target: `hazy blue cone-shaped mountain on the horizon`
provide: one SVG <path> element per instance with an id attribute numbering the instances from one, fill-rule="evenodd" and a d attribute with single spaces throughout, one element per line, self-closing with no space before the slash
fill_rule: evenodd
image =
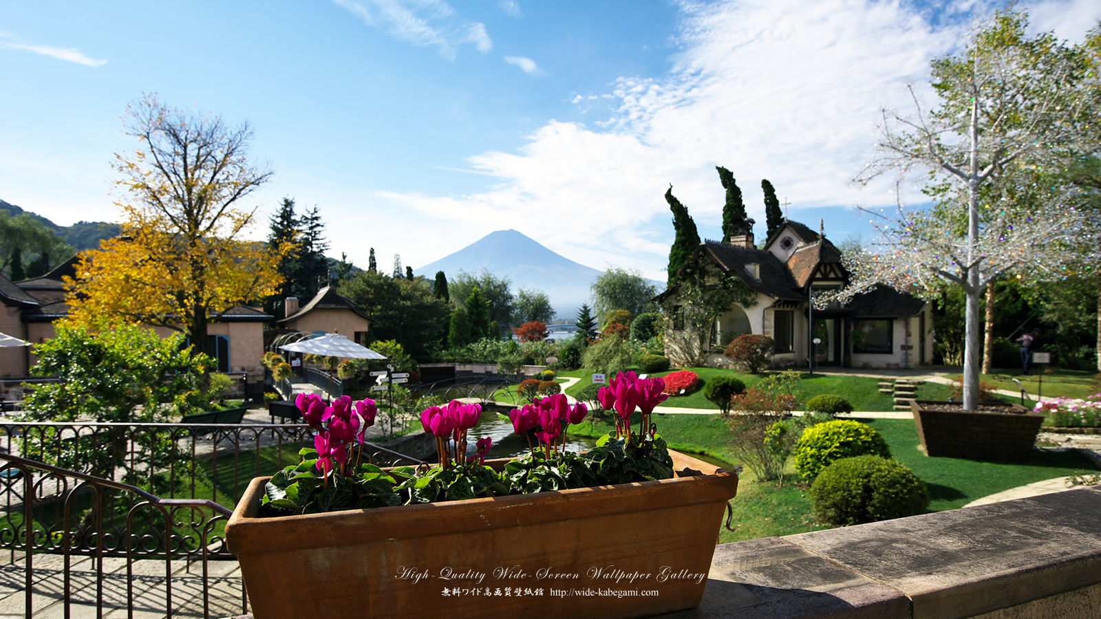
<path id="1" fill-rule="evenodd" d="M 512 291 L 538 290 L 550 298 L 558 319 L 574 319 L 582 303 L 592 305 L 589 285 L 603 271 L 559 256 L 516 230 L 490 232 L 469 246 L 413 272 L 432 281 L 443 271 L 450 281 L 459 271 L 482 269 L 512 280 Z M 653 282 L 658 284 L 658 282 Z M 664 285 L 658 286 L 658 290 Z"/>

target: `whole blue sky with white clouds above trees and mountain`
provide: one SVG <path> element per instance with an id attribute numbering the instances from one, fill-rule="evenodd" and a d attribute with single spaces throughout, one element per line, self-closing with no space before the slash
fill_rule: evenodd
<path id="1" fill-rule="evenodd" d="M 274 172 L 244 203 L 252 235 L 283 196 L 317 206 L 330 254 L 373 247 L 416 269 L 516 229 L 598 269 L 664 280 L 663 194 L 720 236 L 730 169 L 763 235 L 761 178 L 835 241 L 893 184 L 849 182 L 881 107 L 927 104 L 928 64 L 995 2 L 868 0 L 0 3 L 0 199 L 62 225 L 118 220 L 127 104 L 254 130 Z M 1095 0 L 1024 4 L 1078 41 Z M 924 174 L 903 184 L 920 202 Z M 428 274 L 430 275 L 430 273 Z"/>

